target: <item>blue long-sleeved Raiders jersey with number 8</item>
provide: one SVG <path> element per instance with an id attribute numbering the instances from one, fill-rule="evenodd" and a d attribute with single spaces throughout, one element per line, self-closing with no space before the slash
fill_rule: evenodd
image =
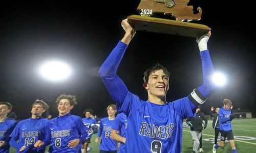
<path id="1" fill-rule="evenodd" d="M 87 137 L 87 130 L 81 117 L 71 114 L 50 120 L 51 146 L 49 152 L 81 152 L 81 143 Z M 79 144 L 70 148 L 69 142 L 80 139 Z"/>

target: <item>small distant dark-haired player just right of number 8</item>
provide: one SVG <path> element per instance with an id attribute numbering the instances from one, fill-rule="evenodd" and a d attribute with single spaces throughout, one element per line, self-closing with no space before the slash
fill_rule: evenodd
<path id="1" fill-rule="evenodd" d="M 91 109 L 86 109 L 83 114 L 86 116 L 86 118 L 82 118 L 82 122 L 84 125 L 86 125 L 87 129 L 88 129 L 88 136 L 86 138 L 86 140 L 84 140 L 82 142 L 82 152 L 83 153 L 87 153 L 87 148 L 89 143 L 91 143 L 91 138 L 93 136 L 93 129 L 92 126 L 97 124 L 96 120 L 91 118 L 91 115 L 93 114 L 93 110 Z"/>

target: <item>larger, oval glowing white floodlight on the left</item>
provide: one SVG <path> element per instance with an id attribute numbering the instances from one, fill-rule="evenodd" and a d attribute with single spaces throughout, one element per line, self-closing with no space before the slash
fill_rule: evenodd
<path id="1" fill-rule="evenodd" d="M 39 68 L 40 75 L 50 81 L 66 80 L 71 75 L 71 67 L 61 61 L 48 61 Z"/>

